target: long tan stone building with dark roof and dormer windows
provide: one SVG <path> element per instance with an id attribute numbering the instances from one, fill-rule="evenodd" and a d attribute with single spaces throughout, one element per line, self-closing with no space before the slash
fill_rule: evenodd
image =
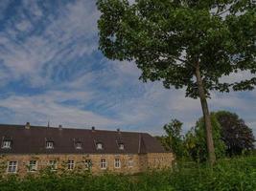
<path id="1" fill-rule="evenodd" d="M 90 170 L 138 173 L 166 168 L 174 156 L 151 135 L 92 128 L 71 129 L 26 125 L 0 125 L 1 173 L 52 170 Z"/>

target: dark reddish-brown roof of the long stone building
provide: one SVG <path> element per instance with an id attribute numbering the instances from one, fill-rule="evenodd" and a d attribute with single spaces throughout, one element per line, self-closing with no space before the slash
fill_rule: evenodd
<path id="1" fill-rule="evenodd" d="M 11 140 L 12 148 L 0 148 L 0 154 L 138 154 L 166 152 L 156 138 L 146 133 L 54 128 L 24 125 L 0 125 L 0 138 Z M 46 149 L 46 141 L 54 141 L 54 149 Z M 76 149 L 75 142 L 81 142 Z M 104 145 L 96 149 L 96 143 Z M 119 149 L 123 143 L 124 150 Z"/>

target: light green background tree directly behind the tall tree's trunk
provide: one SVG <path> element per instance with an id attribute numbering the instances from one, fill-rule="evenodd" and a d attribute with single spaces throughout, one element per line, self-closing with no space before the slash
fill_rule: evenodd
<path id="1" fill-rule="evenodd" d="M 211 114 L 211 121 L 213 125 L 213 139 L 215 145 L 215 154 L 217 158 L 222 158 L 225 154 L 225 144 L 221 140 L 221 125 L 215 117 Z M 189 131 L 185 138 L 186 149 L 193 159 L 200 161 L 207 159 L 207 146 L 205 138 L 204 120 L 200 117 L 196 123 L 195 128 Z"/>

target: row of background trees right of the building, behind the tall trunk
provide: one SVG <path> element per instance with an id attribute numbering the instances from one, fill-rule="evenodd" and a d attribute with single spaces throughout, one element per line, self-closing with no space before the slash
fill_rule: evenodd
<path id="1" fill-rule="evenodd" d="M 219 111 L 211 114 L 212 133 L 217 159 L 250 154 L 255 138 L 251 128 L 235 113 Z M 172 150 L 177 159 L 207 159 L 205 124 L 200 117 L 195 126 L 182 135 L 182 122 L 173 119 L 164 125 L 165 136 L 157 137 L 167 150 Z"/>

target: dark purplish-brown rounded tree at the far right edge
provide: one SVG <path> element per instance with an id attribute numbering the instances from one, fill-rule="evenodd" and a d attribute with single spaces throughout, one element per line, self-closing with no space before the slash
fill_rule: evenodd
<path id="1" fill-rule="evenodd" d="M 221 124 L 221 139 L 226 145 L 226 152 L 229 156 L 241 155 L 243 150 L 254 148 L 255 138 L 252 130 L 244 123 L 238 115 L 227 111 L 215 113 Z"/>

